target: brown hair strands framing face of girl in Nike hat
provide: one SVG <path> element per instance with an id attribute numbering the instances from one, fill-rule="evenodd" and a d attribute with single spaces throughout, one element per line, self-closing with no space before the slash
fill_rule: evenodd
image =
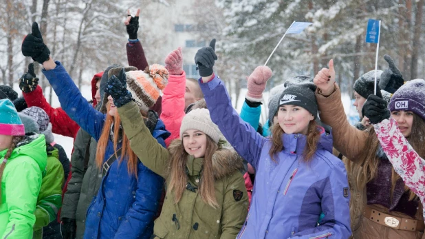
<path id="1" fill-rule="evenodd" d="M 269 155 L 274 162 L 277 162 L 275 158 L 276 154 L 283 150 L 283 134 L 285 134 L 285 132 L 283 132 L 281 125 L 276 123 L 272 126 L 272 147 L 270 147 Z M 316 124 L 316 121 L 310 121 L 307 129 L 307 143 L 303 152 L 304 162 L 308 163 L 309 160 L 312 159 L 312 157 L 316 153 L 317 144 L 319 140 L 320 132 L 318 130 L 318 125 Z"/>

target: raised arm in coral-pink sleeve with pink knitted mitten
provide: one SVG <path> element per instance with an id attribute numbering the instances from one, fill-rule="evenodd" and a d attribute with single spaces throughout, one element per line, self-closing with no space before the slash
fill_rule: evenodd
<path id="1" fill-rule="evenodd" d="M 161 119 L 166 129 L 171 133 L 165 141 L 166 146 L 171 141 L 179 138 L 180 125 L 184 118 L 184 92 L 186 87 L 186 73 L 183 70 L 182 48 L 173 50 L 165 58 L 165 65 L 168 69 L 168 84 L 164 88 L 162 96 Z"/>

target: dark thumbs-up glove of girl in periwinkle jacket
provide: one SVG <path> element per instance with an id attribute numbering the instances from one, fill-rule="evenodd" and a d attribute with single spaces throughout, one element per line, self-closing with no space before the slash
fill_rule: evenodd
<path id="1" fill-rule="evenodd" d="M 210 46 L 205 46 L 196 52 L 195 64 L 198 65 L 199 75 L 206 77 L 212 75 L 214 70 L 215 61 L 217 61 L 217 55 L 215 54 L 215 39 L 212 39 Z"/>

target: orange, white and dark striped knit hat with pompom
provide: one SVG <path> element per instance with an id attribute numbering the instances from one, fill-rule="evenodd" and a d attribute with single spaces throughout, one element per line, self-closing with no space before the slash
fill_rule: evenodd
<path id="1" fill-rule="evenodd" d="M 162 65 L 153 64 L 146 70 L 134 70 L 125 73 L 127 90 L 138 103 L 140 110 L 148 112 L 160 97 L 160 91 L 168 83 L 168 70 Z"/>

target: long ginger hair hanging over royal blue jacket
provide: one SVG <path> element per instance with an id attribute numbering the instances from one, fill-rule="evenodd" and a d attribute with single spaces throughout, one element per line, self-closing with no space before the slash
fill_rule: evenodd
<path id="1" fill-rule="evenodd" d="M 110 104 L 107 103 L 107 112 L 109 112 Z M 98 168 L 102 169 L 103 161 L 105 160 L 105 151 L 107 149 L 108 141 L 109 141 L 109 129 L 111 129 L 111 125 L 114 125 L 113 128 L 113 151 L 114 154 L 117 154 L 117 144 L 118 137 L 120 132 L 121 118 L 118 114 L 115 117 L 107 114 L 107 118 L 105 120 L 105 124 L 103 125 L 102 134 L 100 134 L 100 138 L 98 141 L 98 147 L 96 149 L 96 165 Z M 138 177 L 138 156 L 135 155 L 133 150 L 130 148 L 130 141 L 127 138 L 127 135 L 122 129 L 122 150 L 121 150 L 121 158 L 118 163 L 122 163 L 124 157 L 128 156 L 127 160 L 127 171 L 129 174 L 133 174 L 136 178 Z M 116 155 L 118 158 L 118 155 Z"/>

